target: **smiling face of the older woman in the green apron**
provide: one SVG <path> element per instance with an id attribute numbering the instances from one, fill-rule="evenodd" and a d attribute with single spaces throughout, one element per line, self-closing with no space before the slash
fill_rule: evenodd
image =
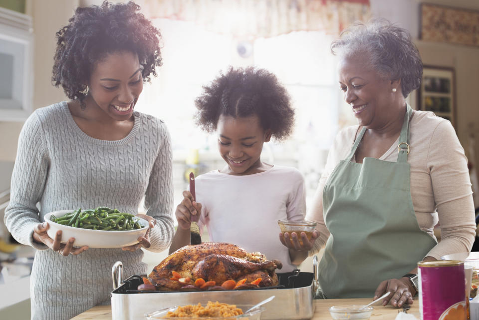
<path id="1" fill-rule="evenodd" d="M 359 125 L 374 129 L 387 121 L 392 81 L 381 78 L 368 59 L 360 55 L 342 58 L 338 70 L 344 100 Z"/>

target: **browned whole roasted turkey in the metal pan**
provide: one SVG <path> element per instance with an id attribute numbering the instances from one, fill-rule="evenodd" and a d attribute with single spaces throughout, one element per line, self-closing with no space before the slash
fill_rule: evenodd
<path id="1" fill-rule="evenodd" d="M 241 279 L 246 279 L 245 284 L 249 284 L 261 278 L 258 286 L 270 287 L 278 285 L 274 271 L 281 267 L 278 260 L 268 261 L 258 252 L 248 253 L 228 243 L 206 242 L 178 249 L 153 269 L 149 279 L 158 290 L 166 291 L 178 291 L 185 287 L 185 283 L 172 279 L 173 271 L 182 278 L 190 278 L 192 283 L 202 278 L 215 281 L 217 285 Z"/>

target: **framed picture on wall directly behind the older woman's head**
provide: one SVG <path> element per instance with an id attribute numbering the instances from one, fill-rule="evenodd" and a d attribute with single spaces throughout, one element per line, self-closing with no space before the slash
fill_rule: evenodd
<path id="1" fill-rule="evenodd" d="M 448 119 L 457 131 L 454 68 L 425 65 L 418 100 L 419 110 Z"/>

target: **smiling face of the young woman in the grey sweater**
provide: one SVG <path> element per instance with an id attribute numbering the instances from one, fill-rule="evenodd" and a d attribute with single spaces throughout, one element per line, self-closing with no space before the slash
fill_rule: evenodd
<path id="1" fill-rule="evenodd" d="M 107 116 L 117 121 L 130 119 L 143 90 L 137 54 L 129 51 L 108 54 L 95 64 L 89 87 L 88 96 Z"/>

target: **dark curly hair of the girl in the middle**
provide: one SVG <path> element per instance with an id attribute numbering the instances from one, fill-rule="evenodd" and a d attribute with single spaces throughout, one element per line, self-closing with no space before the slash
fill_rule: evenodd
<path id="1" fill-rule="evenodd" d="M 230 67 L 195 100 L 197 124 L 207 132 L 217 129 L 220 115 L 257 115 L 264 130 L 280 141 L 287 138 L 294 124 L 294 110 L 286 89 L 274 74 L 254 67 Z"/>

